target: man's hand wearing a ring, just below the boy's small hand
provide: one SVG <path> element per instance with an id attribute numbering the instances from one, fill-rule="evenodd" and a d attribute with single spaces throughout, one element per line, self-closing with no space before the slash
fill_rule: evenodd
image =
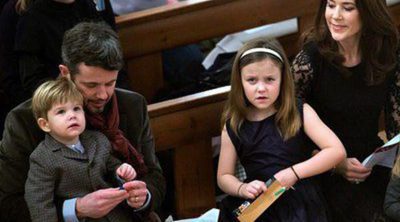
<path id="1" fill-rule="evenodd" d="M 147 187 L 146 183 L 139 180 L 126 182 L 124 184 L 125 190 L 129 193 L 127 199 L 129 206 L 133 208 L 140 208 L 146 202 Z"/>

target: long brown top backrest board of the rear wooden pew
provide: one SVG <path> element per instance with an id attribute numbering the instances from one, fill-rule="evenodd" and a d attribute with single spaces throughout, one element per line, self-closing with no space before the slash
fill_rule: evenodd
<path id="1" fill-rule="evenodd" d="M 315 0 L 218 0 L 176 8 L 175 14 L 162 19 L 131 21 L 117 18 L 118 32 L 126 58 L 163 49 L 196 43 L 241 30 L 310 14 Z M 201 6 L 201 7 L 199 7 Z M 276 10 L 284 9 L 284 10 Z M 167 10 L 168 11 L 168 10 Z M 145 17 L 145 16 L 144 16 Z M 136 39 L 138 41 L 131 41 Z"/>

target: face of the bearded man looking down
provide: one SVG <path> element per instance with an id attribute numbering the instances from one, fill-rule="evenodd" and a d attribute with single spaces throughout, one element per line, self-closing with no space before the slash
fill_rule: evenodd
<path id="1" fill-rule="evenodd" d="M 92 113 L 101 113 L 114 93 L 117 77 L 118 70 L 109 71 L 81 63 L 72 80 L 83 95 L 85 107 Z"/>

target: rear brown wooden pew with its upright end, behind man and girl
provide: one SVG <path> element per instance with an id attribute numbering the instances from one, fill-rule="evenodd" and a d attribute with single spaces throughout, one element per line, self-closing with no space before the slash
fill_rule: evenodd
<path id="1" fill-rule="evenodd" d="M 117 17 L 117 29 L 134 91 L 151 102 L 164 86 L 161 52 L 241 30 L 298 17 L 299 30 L 312 21 L 316 0 L 187 0 Z M 282 10 L 281 10 L 282 9 Z M 298 34 L 281 39 L 298 51 Z"/>

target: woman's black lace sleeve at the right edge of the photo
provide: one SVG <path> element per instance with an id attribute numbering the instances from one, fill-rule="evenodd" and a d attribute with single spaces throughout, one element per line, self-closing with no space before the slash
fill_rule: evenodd
<path id="1" fill-rule="evenodd" d="M 400 55 L 398 60 L 400 60 Z M 388 139 L 393 138 L 400 131 L 400 64 L 398 66 L 393 82 L 389 83 L 385 107 L 385 128 Z"/>

